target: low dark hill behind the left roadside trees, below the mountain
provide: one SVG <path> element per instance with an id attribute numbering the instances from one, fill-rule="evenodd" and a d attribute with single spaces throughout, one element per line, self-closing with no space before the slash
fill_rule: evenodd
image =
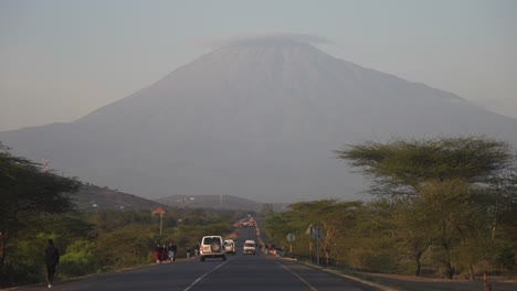
<path id="1" fill-rule="evenodd" d="M 81 211 L 152 209 L 158 206 L 163 206 L 163 204 L 156 201 L 89 184 L 83 185 L 73 197 Z"/>

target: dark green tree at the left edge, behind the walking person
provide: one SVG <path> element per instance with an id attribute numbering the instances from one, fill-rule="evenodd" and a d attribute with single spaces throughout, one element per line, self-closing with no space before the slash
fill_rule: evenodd
<path id="1" fill-rule="evenodd" d="M 78 186 L 75 179 L 43 172 L 0 144 L 0 272 L 17 235 L 33 228 L 43 214 L 73 209 L 70 194 Z"/>

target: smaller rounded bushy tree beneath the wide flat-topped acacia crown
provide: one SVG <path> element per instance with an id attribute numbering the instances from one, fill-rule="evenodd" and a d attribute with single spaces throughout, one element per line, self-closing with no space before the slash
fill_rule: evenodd
<path id="1" fill-rule="evenodd" d="M 464 180 L 432 181 L 422 187 L 415 204 L 429 224 L 437 260 L 452 279 L 456 265 L 463 265 L 474 280 L 473 265 L 481 259 L 481 251 L 473 251 L 488 238 L 489 226 L 485 207 L 479 207 L 476 195 L 481 192 Z M 465 251 L 464 251 L 465 250 Z"/>

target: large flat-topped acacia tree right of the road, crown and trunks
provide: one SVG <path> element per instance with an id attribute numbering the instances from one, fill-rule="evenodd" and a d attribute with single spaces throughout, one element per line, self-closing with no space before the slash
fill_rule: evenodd
<path id="1" fill-rule="evenodd" d="M 420 227 L 420 224 L 411 224 L 410 220 L 431 219 L 431 216 L 424 216 L 422 209 L 429 201 L 419 201 L 423 193 L 430 192 L 430 185 L 434 185 L 437 191 L 432 193 L 442 193 L 444 195 L 434 195 L 433 200 L 445 201 L 457 191 L 451 186 L 452 183 L 463 181 L 468 187 L 463 188 L 468 193 L 472 188 L 484 190 L 485 193 L 494 191 L 494 177 L 500 176 L 513 166 L 514 155 L 510 153 L 509 146 L 504 141 L 487 139 L 485 137 L 462 137 L 462 138 L 440 138 L 433 140 L 395 140 L 389 143 L 367 142 L 358 146 L 347 146 L 342 150 L 336 151 L 339 159 L 351 161 L 351 164 L 359 169 L 359 172 L 369 176 L 372 181 L 370 192 L 386 198 L 391 205 L 405 205 L 404 212 L 399 212 L 403 217 L 405 225 L 400 227 L 404 231 L 398 231 L 407 246 L 419 246 L 422 238 L 425 238 L 429 228 Z M 515 182 L 515 181 L 514 181 Z M 441 184 L 442 183 L 442 184 Z M 468 191 L 467 191 L 468 190 Z M 483 205 L 477 200 L 476 207 L 485 207 L 487 212 L 494 208 L 494 205 Z M 439 233 L 433 233 L 434 237 L 430 241 L 440 240 L 439 245 L 451 249 L 456 247 L 457 236 L 465 238 L 468 229 L 460 231 L 458 226 L 466 224 L 467 217 L 472 217 L 473 209 L 476 207 L 462 207 L 460 201 L 454 201 L 455 205 L 466 213 L 456 215 L 452 218 L 454 231 L 445 231 L 451 235 L 444 238 Z M 444 204 L 442 204 L 444 205 Z M 449 205 L 454 207 L 454 205 Z M 391 213 L 393 214 L 393 213 Z M 432 225 L 428 224 L 428 225 Z M 405 229 L 404 229 L 405 228 Z M 479 226 L 481 228 L 481 226 Z M 420 242 L 419 242 L 420 241 Z M 420 274 L 420 257 L 422 250 L 426 247 L 419 247 L 415 260 L 415 274 Z M 420 255 L 419 255 L 420 254 Z M 445 251 L 445 256 L 449 256 Z M 451 260 L 445 259 L 444 263 L 451 265 Z M 452 278 L 454 268 L 447 266 L 447 277 Z"/>

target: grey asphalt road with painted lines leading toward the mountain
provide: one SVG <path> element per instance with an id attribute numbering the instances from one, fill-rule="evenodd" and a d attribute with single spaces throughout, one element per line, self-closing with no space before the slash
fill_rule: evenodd
<path id="1" fill-rule="evenodd" d="M 257 251 L 242 255 L 244 239 L 255 239 L 255 228 L 243 228 L 238 238 L 238 255 L 221 259 L 199 258 L 178 260 L 168 265 L 150 265 L 136 269 L 56 281 L 52 290 L 377 290 L 325 271 Z M 43 290 L 33 285 L 17 290 Z"/>

